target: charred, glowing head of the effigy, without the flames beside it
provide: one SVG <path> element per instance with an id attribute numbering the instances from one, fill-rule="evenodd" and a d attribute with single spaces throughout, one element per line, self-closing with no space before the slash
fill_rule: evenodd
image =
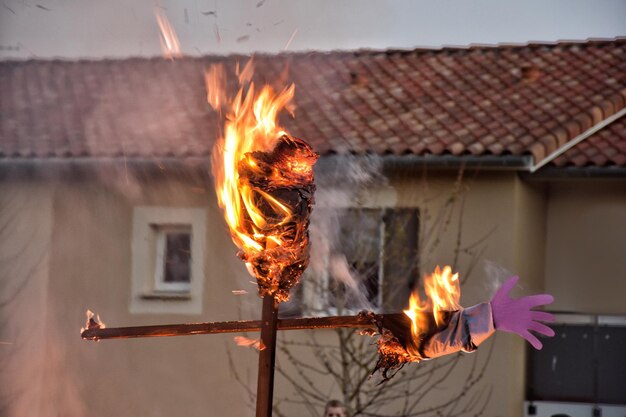
<path id="1" fill-rule="evenodd" d="M 271 153 L 246 154 L 239 164 L 240 183 L 252 190 L 254 199 L 244 202 L 249 207 L 245 227 L 263 247 L 239 256 L 252 269 L 262 296 L 289 298 L 309 263 L 308 226 L 315 190 L 311 168 L 316 159 L 309 145 L 285 134 Z M 252 220 L 258 212 L 262 219 Z"/>

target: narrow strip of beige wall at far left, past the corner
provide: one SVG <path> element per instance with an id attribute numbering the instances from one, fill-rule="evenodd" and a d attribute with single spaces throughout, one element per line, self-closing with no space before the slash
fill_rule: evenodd
<path id="1" fill-rule="evenodd" d="M 68 398 L 71 382 L 48 384 L 62 374 L 62 352 L 46 326 L 52 192 L 41 183 L 0 182 L 0 398 L 1 415 L 40 415 L 42 404 Z M 6 401 L 11 399 L 11 401 Z"/>

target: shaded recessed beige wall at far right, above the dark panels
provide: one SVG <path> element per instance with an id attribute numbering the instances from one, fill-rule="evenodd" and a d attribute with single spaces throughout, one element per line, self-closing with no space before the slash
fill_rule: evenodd
<path id="1" fill-rule="evenodd" d="M 626 182 L 587 180 L 550 186 L 546 289 L 554 308 L 626 314 Z"/>

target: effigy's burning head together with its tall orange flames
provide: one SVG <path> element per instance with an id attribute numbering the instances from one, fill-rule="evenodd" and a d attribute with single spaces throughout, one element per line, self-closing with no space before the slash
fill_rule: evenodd
<path id="1" fill-rule="evenodd" d="M 278 125 L 289 109 L 295 86 L 257 91 L 249 61 L 237 69 L 240 88 L 226 92 L 226 71 L 216 65 L 206 73 L 207 101 L 225 111 L 224 134 L 212 154 L 218 203 L 240 257 L 257 278 L 262 295 L 282 290 L 288 297 L 308 263 L 308 214 L 313 165 L 317 155 L 305 142 Z"/>

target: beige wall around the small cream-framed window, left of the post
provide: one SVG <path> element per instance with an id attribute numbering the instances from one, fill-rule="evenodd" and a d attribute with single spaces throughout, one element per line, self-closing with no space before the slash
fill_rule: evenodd
<path id="1" fill-rule="evenodd" d="M 140 205 L 208 209 L 202 314 L 129 312 L 132 209 Z M 63 333 L 88 408 L 101 416 L 246 415 L 245 392 L 228 365 L 229 335 L 90 343 L 77 333 L 87 308 L 113 326 L 254 318 L 254 287 L 234 256 L 214 193 L 175 179 L 79 180 L 58 187 L 54 219 L 50 296 L 71 323 Z M 236 298 L 231 291 L 240 288 L 251 294 Z M 253 352 L 237 358 L 255 369 Z"/>

